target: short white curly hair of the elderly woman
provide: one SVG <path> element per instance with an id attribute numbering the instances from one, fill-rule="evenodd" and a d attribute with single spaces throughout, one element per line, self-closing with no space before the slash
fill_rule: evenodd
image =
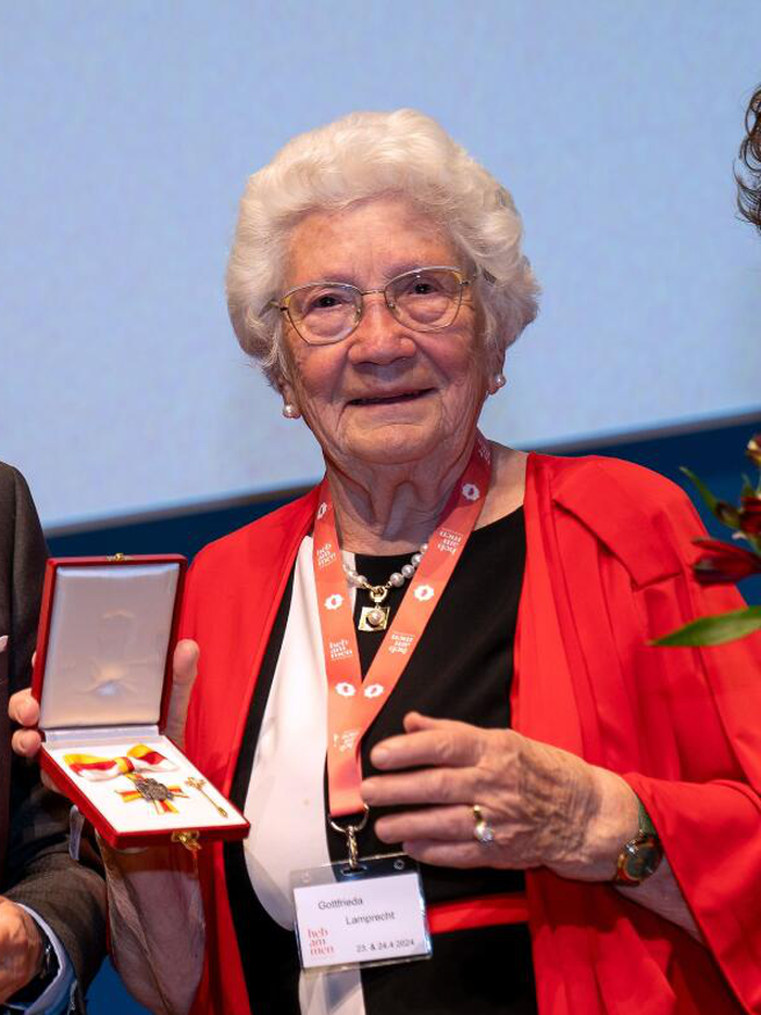
<path id="1" fill-rule="evenodd" d="M 484 351 L 501 360 L 537 313 L 539 287 L 521 251 L 512 197 L 431 116 L 350 113 L 290 140 L 249 177 L 227 265 L 227 308 L 242 349 L 277 386 L 286 376 L 282 314 L 288 238 L 310 212 L 402 195 L 476 270 Z"/>

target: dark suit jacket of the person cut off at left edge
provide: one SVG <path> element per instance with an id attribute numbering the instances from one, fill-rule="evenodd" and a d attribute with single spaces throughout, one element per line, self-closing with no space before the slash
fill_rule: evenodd
<path id="1" fill-rule="evenodd" d="M 8 693 L 29 684 L 47 547 L 24 478 L 0 464 L 0 634 L 8 632 Z M 7 715 L 5 696 L 2 713 Z M 0 743 L 9 768 L 8 729 Z M 49 924 L 86 987 L 105 949 L 105 888 L 97 851 L 68 855 L 70 804 L 39 781 L 36 764 L 14 757 L 3 894 Z"/>

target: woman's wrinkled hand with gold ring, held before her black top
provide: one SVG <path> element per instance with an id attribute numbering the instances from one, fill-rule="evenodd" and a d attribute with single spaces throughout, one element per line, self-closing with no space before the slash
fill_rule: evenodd
<path id="1" fill-rule="evenodd" d="M 376 744 L 376 775 L 362 784 L 386 815 L 384 842 L 447 867 L 547 866 L 565 877 L 608 880 L 624 842 L 638 829 L 637 798 L 615 773 L 511 729 L 483 729 L 411 712 L 406 732 Z M 403 770 L 413 769 L 413 770 Z M 473 805 L 494 829 L 474 836 Z"/>

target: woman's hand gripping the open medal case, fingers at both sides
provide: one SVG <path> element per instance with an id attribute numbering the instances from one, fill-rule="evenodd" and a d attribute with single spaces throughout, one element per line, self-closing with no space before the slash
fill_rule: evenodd
<path id="1" fill-rule="evenodd" d="M 178 641 L 174 650 L 172 697 L 166 713 L 165 732 L 180 749 L 185 747 L 185 723 L 188 716 L 190 692 L 198 673 L 199 654 L 198 643 L 189 638 Z M 22 757 L 35 757 L 42 742 L 36 729 L 39 722 L 39 702 L 32 697 L 28 687 L 11 696 L 8 714 L 12 722 L 22 727 L 13 734 L 11 739 L 13 750 Z"/>

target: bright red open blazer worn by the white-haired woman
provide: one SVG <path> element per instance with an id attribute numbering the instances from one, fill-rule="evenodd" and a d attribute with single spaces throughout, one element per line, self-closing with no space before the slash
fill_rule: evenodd
<path id="1" fill-rule="evenodd" d="M 207 547 L 183 635 L 201 647 L 194 762 L 228 792 L 251 694 L 315 491 Z M 693 579 L 702 534 L 669 480 L 610 459 L 532 455 L 514 728 L 622 773 L 707 947 L 610 885 L 526 872 L 541 1015 L 761 1015 L 761 638 L 649 640 L 736 609 Z M 207 964 L 195 1011 L 248 1015 L 222 848 L 201 854 Z M 266 976 L 267 970 L 262 970 Z M 254 1013 L 255 1015 L 255 1013 Z"/>

